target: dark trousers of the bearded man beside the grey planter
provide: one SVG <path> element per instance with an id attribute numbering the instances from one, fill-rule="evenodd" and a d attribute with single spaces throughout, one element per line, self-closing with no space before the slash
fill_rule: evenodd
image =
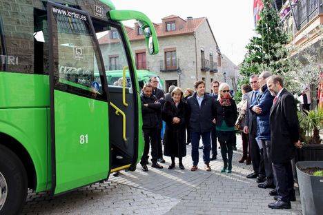
<path id="1" fill-rule="evenodd" d="M 278 196 L 282 198 L 282 201 L 290 201 L 290 198 L 295 196 L 291 161 L 286 163 L 273 163 L 273 174 Z"/>

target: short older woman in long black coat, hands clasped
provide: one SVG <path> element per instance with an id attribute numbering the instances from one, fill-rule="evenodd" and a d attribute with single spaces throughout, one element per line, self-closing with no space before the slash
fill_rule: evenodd
<path id="1" fill-rule="evenodd" d="M 181 88 L 175 88 L 171 95 L 172 100 L 166 101 L 161 110 L 161 118 L 166 122 L 164 155 L 172 158 L 169 170 L 175 167 L 175 157 L 179 159 L 179 168 L 184 170 L 182 158 L 186 156 L 186 103 L 182 101 Z"/>

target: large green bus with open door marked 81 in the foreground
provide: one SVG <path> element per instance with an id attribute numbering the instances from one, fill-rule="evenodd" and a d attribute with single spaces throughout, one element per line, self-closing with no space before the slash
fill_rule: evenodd
<path id="1" fill-rule="evenodd" d="M 135 170 L 141 103 L 121 23 L 131 19 L 157 54 L 150 19 L 109 0 L 0 0 L 0 214 L 18 214 L 28 188 L 62 194 Z M 117 67 L 130 86 L 108 84 Z"/>

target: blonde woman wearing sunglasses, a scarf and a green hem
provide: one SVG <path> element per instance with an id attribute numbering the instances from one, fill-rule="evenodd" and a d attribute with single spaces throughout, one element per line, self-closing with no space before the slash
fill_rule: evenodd
<path id="1" fill-rule="evenodd" d="M 221 172 L 231 173 L 233 145 L 235 144 L 235 121 L 237 120 L 237 105 L 230 94 L 227 83 L 219 85 L 219 96 L 215 103 L 217 139 L 221 145 L 224 166 Z"/>

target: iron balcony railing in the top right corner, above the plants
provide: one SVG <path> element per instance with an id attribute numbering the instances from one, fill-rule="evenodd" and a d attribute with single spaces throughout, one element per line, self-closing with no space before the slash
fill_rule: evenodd
<path id="1" fill-rule="evenodd" d="M 318 14 L 323 12 L 322 0 L 294 0 L 292 12 L 295 17 L 296 28 L 300 30 Z"/>

